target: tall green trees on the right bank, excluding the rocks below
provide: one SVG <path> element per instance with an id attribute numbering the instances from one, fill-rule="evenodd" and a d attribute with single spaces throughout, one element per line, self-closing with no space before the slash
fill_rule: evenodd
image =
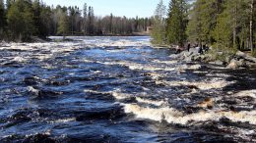
<path id="1" fill-rule="evenodd" d="M 256 54 L 255 6 L 256 0 L 170 0 L 166 13 L 160 0 L 153 42 L 179 46 L 192 42 L 219 49 L 251 49 Z"/>

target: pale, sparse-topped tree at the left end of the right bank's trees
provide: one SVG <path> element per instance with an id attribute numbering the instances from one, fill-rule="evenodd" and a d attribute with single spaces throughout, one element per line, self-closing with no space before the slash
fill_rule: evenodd
<path id="1" fill-rule="evenodd" d="M 162 0 L 157 6 L 154 16 L 153 30 L 151 36 L 153 37 L 152 42 L 154 44 L 164 44 L 165 39 L 165 12 L 166 7 L 163 5 Z"/>

